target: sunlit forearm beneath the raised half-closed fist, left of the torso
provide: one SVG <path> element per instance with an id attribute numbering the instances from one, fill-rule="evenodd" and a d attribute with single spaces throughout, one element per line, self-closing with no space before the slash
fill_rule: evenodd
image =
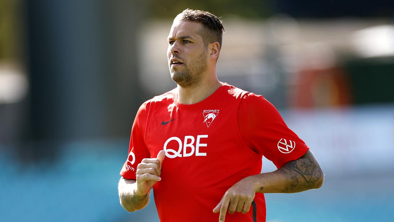
<path id="1" fill-rule="evenodd" d="M 121 178 L 118 185 L 120 203 L 126 211 L 133 212 L 143 209 L 149 203 L 149 193 L 145 196 L 135 194 L 136 181 Z"/>

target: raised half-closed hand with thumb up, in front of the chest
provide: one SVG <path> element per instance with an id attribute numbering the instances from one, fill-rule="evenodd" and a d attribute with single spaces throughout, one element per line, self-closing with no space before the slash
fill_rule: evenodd
<path id="1" fill-rule="evenodd" d="M 145 158 L 137 166 L 137 188 L 134 193 L 137 196 L 146 196 L 153 185 L 160 181 L 162 174 L 162 163 L 165 157 L 165 151 L 162 150 L 157 154 L 157 158 Z"/>

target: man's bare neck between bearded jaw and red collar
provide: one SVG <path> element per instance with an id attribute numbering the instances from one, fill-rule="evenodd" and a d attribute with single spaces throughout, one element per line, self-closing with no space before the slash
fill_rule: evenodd
<path id="1" fill-rule="evenodd" d="M 178 85 L 178 101 L 182 104 L 189 105 L 201 102 L 212 95 L 212 93 L 221 87 L 221 83 L 217 80 L 216 75 L 210 76 L 212 77 L 205 78 L 195 86 L 184 88 Z"/>

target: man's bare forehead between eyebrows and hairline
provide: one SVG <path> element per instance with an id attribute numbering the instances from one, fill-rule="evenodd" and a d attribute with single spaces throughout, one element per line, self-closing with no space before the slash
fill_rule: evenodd
<path id="1" fill-rule="evenodd" d="M 194 39 L 202 39 L 197 31 L 201 28 L 201 23 L 175 19 L 171 26 L 168 38 L 179 38 L 180 36 L 190 36 Z"/>

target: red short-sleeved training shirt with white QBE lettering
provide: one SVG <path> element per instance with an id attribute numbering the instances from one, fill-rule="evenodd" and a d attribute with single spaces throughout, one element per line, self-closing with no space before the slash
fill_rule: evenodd
<path id="1" fill-rule="evenodd" d="M 120 174 L 135 180 L 141 160 L 163 149 L 162 180 L 153 186 L 160 221 L 199 222 L 218 220 L 212 209 L 232 185 L 261 172 L 263 155 L 279 168 L 309 148 L 263 96 L 222 83 L 199 103 L 179 103 L 176 89 L 143 103 Z M 226 222 L 265 218 L 260 193 L 249 213 L 226 214 Z"/>

